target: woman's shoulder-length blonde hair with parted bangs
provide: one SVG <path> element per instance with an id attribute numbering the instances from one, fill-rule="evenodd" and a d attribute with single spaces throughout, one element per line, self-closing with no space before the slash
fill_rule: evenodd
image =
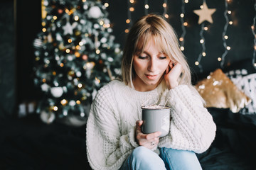
<path id="1" fill-rule="evenodd" d="M 174 28 L 165 19 L 156 14 L 149 14 L 139 19 L 127 35 L 122 58 L 122 80 L 125 84 L 133 86 L 134 69 L 132 62 L 137 52 L 142 52 L 149 39 L 153 38 L 155 45 L 171 58 L 172 62 L 178 62 L 183 67 L 183 73 L 178 84 L 191 84 L 191 71 L 185 56 L 180 50 L 177 35 Z"/>

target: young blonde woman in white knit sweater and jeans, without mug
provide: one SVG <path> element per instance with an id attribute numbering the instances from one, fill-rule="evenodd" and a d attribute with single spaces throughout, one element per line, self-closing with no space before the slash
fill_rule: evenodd
<path id="1" fill-rule="evenodd" d="M 170 132 L 143 134 L 145 104 L 171 107 Z M 196 153 L 215 137 L 213 118 L 191 85 L 191 73 L 174 29 L 156 14 L 129 31 L 122 81 L 97 92 L 87 120 L 87 158 L 92 169 L 201 169 Z"/>

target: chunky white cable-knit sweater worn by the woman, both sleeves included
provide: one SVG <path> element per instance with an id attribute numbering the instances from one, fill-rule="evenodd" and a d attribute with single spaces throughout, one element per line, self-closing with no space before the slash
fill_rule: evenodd
<path id="1" fill-rule="evenodd" d="M 214 140 L 216 126 L 189 86 L 179 85 L 162 93 L 159 85 L 153 91 L 141 92 L 114 80 L 97 92 L 87 120 L 87 158 L 92 169 L 119 169 L 139 146 L 134 128 L 136 121 L 142 120 L 141 106 L 166 100 L 171 106 L 170 132 L 160 138 L 158 147 L 206 151 Z"/>

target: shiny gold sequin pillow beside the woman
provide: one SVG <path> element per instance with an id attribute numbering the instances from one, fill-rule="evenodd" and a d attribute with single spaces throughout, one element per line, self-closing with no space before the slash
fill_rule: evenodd
<path id="1" fill-rule="evenodd" d="M 251 99 L 240 91 L 221 69 L 211 72 L 206 79 L 198 81 L 195 87 L 208 108 L 230 108 L 233 113 L 238 113 L 251 102 Z"/>

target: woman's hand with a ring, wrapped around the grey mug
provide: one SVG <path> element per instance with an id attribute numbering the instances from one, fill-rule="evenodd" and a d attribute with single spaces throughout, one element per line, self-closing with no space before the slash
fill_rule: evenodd
<path id="1" fill-rule="evenodd" d="M 149 149 L 153 149 L 159 143 L 159 136 L 161 132 L 154 132 L 150 134 L 142 133 L 142 120 L 137 120 L 136 122 L 136 131 L 135 131 L 135 138 L 139 146 L 144 146 Z"/>

